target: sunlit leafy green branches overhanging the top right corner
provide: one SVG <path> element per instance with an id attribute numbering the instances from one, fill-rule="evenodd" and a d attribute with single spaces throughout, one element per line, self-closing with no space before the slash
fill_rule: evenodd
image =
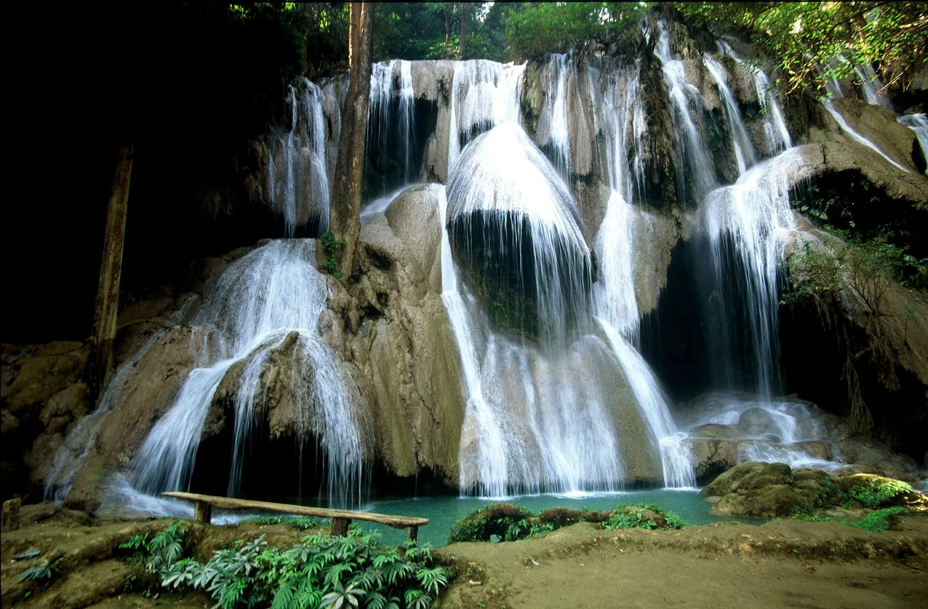
<path id="1" fill-rule="evenodd" d="M 851 78 L 854 66 L 865 63 L 879 66 L 888 84 L 908 88 L 928 57 L 928 5 L 923 2 L 674 4 L 697 25 L 750 37 L 761 55 L 777 61 L 777 84 L 789 91 L 823 90 L 828 80 Z"/>

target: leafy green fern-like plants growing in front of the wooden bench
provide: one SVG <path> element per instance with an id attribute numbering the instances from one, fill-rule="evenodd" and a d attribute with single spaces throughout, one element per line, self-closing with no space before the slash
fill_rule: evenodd
<path id="1" fill-rule="evenodd" d="M 131 549 L 136 541 L 121 547 Z M 148 570 L 160 575 L 161 587 L 204 590 L 222 609 L 399 609 L 401 603 L 425 609 L 450 577 L 434 565 L 428 545 L 409 542 L 400 552 L 359 527 L 350 527 L 347 537 L 316 533 L 284 551 L 269 548 L 264 535 L 239 540 L 234 548 L 213 552 L 206 563 L 182 556 L 189 546 L 178 523 L 144 547 Z"/>

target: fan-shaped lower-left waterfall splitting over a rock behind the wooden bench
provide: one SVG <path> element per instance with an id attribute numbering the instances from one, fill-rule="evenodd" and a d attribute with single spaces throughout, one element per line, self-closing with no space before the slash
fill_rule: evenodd
<path id="1" fill-rule="evenodd" d="M 329 501 L 357 501 L 369 455 L 364 441 L 370 422 L 353 406 L 342 364 L 316 329 L 328 298 L 326 280 L 316 271 L 312 240 L 272 241 L 229 266 L 193 320 L 219 338 L 219 353 L 207 356 L 207 362 L 187 375 L 173 406 L 149 432 L 132 465 L 135 488 L 148 493 L 188 488 L 216 389 L 238 366 L 243 369 L 228 485 L 236 493 L 253 409 L 267 388 L 264 366 L 275 349 L 289 343 L 296 435 L 319 438 L 329 473 Z"/>

